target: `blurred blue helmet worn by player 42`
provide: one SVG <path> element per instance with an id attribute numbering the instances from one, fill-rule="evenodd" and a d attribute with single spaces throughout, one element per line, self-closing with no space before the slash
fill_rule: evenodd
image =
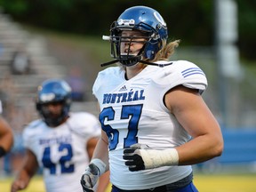
<path id="1" fill-rule="evenodd" d="M 59 116 L 52 116 L 47 104 L 61 103 Z M 56 127 L 68 116 L 71 105 L 71 87 L 61 79 L 48 79 L 37 88 L 36 110 L 44 119 L 45 124 Z"/>

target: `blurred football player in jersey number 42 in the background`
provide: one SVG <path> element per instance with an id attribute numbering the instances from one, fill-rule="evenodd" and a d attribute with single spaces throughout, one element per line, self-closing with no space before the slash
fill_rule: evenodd
<path id="1" fill-rule="evenodd" d="M 42 118 L 23 132 L 26 157 L 12 192 L 26 188 L 39 167 L 47 192 L 83 191 L 79 180 L 92 158 L 100 126 L 88 112 L 69 112 L 70 105 L 71 88 L 64 80 L 49 79 L 38 86 L 36 109 Z M 108 186 L 106 178 L 99 184 L 101 191 Z"/>

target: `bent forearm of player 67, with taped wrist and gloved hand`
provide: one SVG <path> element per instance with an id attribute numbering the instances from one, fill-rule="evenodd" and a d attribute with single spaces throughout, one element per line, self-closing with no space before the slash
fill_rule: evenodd
<path id="1" fill-rule="evenodd" d="M 212 142 L 209 142 L 212 140 Z M 124 149 L 125 165 L 131 172 L 161 166 L 198 164 L 220 156 L 223 140 L 218 134 L 205 134 L 190 140 L 178 148 L 156 149 L 147 145 L 134 144 Z"/>

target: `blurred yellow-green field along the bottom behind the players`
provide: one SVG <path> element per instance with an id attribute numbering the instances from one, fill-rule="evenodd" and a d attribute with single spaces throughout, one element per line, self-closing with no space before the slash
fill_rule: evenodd
<path id="1" fill-rule="evenodd" d="M 12 178 L 0 179 L 0 191 L 9 192 Z M 200 192 L 255 192 L 256 174 L 195 174 L 194 182 Z M 106 192 L 110 191 L 110 186 Z M 21 192 L 45 192 L 41 177 L 31 180 Z"/>

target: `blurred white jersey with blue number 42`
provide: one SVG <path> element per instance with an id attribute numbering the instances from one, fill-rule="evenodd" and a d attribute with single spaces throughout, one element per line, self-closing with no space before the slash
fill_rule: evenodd
<path id="1" fill-rule="evenodd" d="M 80 179 L 90 161 L 87 141 L 99 137 L 100 132 L 97 117 L 86 112 L 70 113 L 65 124 L 54 128 L 42 120 L 28 124 L 24 145 L 43 168 L 47 192 L 83 192 Z"/>

